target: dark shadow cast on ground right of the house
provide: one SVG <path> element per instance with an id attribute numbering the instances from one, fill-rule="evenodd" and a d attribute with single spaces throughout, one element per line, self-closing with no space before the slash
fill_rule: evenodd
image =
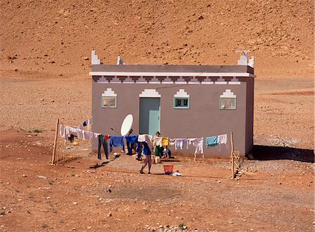
<path id="1" fill-rule="evenodd" d="M 259 161 L 293 160 L 314 163 L 314 151 L 284 146 L 253 146 L 253 158 Z"/>

